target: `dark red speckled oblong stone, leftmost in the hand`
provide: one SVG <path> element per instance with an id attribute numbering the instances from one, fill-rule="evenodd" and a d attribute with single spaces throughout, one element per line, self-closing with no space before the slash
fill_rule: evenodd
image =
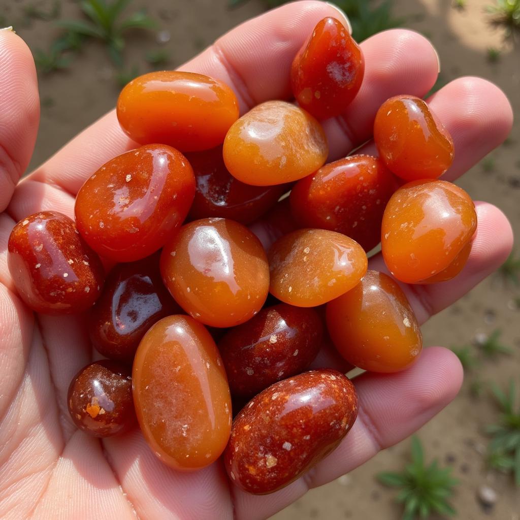
<path id="1" fill-rule="evenodd" d="M 69 217 L 41 211 L 23 218 L 9 236 L 7 262 L 18 294 L 43 314 L 92 307 L 105 273 Z"/>

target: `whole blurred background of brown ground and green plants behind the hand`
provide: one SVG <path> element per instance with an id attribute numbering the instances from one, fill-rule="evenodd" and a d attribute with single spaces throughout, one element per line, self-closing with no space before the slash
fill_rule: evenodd
<path id="1" fill-rule="evenodd" d="M 31 168 L 110 110 L 133 77 L 179 67 L 233 26 L 282 3 L 0 0 L 0 27 L 14 26 L 38 68 L 42 118 Z M 520 113 L 520 0 L 337 4 L 358 41 L 392 27 L 430 38 L 442 68 L 434 90 L 460 75 L 482 76 L 497 83 Z M 459 183 L 473 199 L 500 206 L 516 235 L 519 144 L 516 121 L 508 140 Z M 402 502 L 408 500 L 411 511 L 408 490 L 422 486 L 431 498 L 423 496 L 422 503 L 432 502 L 425 518 L 520 520 L 520 250 L 428 322 L 423 334 L 425 345 L 448 346 L 463 362 L 465 382 L 456 400 L 422 428 L 414 449 L 408 439 L 273 518 L 414 518 Z M 430 466 L 434 461 L 441 471 Z"/>

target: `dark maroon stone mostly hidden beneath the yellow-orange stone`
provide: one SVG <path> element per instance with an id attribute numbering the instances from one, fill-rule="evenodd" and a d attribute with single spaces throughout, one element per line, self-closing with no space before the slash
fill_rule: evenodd
<path id="1" fill-rule="evenodd" d="M 283 193 L 284 186 L 251 186 L 233 177 L 224 164 L 222 146 L 186 155 L 196 179 L 189 217 L 232 218 L 249 224 L 263 215 Z"/>

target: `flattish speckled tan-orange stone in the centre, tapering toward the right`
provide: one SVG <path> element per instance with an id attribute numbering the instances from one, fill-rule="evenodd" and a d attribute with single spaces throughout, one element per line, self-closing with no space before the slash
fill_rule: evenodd
<path id="1" fill-rule="evenodd" d="M 355 287 L 367 265 L 367 254 L 351 238 L 324 229 L 298 229 L 269 250 L 269 291 L 282 302 L 316 307 Z"/>

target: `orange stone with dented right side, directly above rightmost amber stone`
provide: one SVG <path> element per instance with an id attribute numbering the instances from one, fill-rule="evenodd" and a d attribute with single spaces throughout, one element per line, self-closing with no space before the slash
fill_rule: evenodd
<path id="1" fill-rule="evenodd" d="M 381 105 L 374 121 L 374 141 L 381 159 L 401 179 L 435 179 L 453 161 L 449 132 L 415 96 L 396 96 Z"/>

